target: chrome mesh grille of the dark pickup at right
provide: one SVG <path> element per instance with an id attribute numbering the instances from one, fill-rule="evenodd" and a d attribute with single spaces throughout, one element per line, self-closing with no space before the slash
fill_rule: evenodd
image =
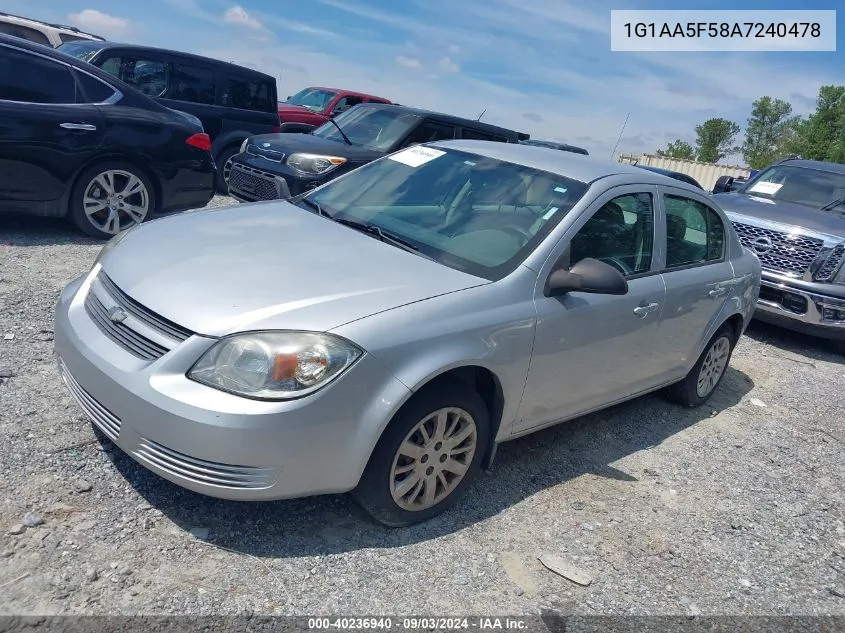
<path id="1" fill-rule="evenodd" d="M 806 235 L 764 229 L 739 222 L 734 222 L 733 226 L 739 241 L 757 254 L 763 268 L 792 277 L 801 277 L 824 246 L 823 240 Z M 768 250 L 758 250 L 761 243 L 768 246 Z"/>

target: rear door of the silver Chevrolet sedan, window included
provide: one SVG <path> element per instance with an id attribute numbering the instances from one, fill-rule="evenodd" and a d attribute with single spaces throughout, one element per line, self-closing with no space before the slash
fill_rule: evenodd
<path id="1" fill-rule="evenodd" d="M 702 338 L 730 299 L 734 271 L 726 256 L 726 227 L 704 194 L 661 187 L 660 199 L 666 306 L 656 345 L 668 378 L 685 374 L 698 358 Z"/>

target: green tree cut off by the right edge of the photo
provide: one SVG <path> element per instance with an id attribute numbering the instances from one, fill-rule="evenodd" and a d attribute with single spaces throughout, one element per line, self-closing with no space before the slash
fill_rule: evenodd
<path id="1" fill-rule="evenodd" d="M 790 144 L 810 160 L 845 163 L 845 86 L 822 86 L 816 111 L 801 122 Z"/>

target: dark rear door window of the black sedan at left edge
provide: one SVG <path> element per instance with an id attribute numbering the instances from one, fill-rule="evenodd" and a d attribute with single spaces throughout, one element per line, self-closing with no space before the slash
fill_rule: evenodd
<path id="1" fill-rule="evenodd" d="M 5 46 L 0 52 L 0 100 L 76 103 L 76 82 L 67 66 Z"/>

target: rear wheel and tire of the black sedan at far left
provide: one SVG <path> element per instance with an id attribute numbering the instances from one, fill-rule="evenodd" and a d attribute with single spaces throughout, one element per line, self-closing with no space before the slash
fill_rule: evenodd
<path id="1" fill-rule="evenodd" d="M 83 233 L 107 240 L 149 219 L 155 202 L 150 179 L 135 165 L 103 162 L 80 174 L 69 215 Z"/>

